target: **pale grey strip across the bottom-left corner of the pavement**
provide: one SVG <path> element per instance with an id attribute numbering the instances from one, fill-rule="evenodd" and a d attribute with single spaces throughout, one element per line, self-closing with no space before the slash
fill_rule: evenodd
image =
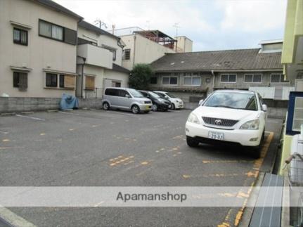
<path id="1" fill-rule="evenodd" d="M 12 226 L 35 227 L 35 225 L 30 221 L 26 221 L 22 217 L 11 212 L 6 207 L 1 207 L 1 205 L 0 205 L 0 217 L 1 219 L 4 219 L 8 223 L 10 223 Z"/>

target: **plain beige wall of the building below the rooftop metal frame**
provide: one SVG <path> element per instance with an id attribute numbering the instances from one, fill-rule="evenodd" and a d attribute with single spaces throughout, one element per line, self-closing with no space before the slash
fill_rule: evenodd
<path id="1" fill-rule="evenodd" d="M 121 39 L 127 45 L 124 49 L 131 49 L 130 60 L 122 60 L 122 66 L 129 70 L 138 63 L 152 63 L 165 56 L 165 53 L 176 53 L 173 49 L 157 44 L 155 41 L 141 36 L 141 34 L 122 36 Z"/>

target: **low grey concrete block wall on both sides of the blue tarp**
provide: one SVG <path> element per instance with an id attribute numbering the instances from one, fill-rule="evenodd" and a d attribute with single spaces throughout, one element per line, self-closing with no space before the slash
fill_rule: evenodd
<path id="1" fill-rule="evenodd" d="M 0 97 L 0 113 L 58 110 L 60 98 Z M 79 108 L 101 108 L 100 98 L 79 98 Z"/>

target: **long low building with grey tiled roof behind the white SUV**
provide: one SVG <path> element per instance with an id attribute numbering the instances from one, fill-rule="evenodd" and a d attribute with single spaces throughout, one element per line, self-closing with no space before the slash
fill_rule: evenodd
<path id="1" fill-rule="evenodd" d="M 287 99 L 295 83 L 284 79 L 278 43 L 281 41 L 264 42 L 253 49 L 166 54 L 151 64 L 156 74 L 150 89 L 177 93 L 186 102 L 216 89 L 254 90 L 264 98 Z"/>

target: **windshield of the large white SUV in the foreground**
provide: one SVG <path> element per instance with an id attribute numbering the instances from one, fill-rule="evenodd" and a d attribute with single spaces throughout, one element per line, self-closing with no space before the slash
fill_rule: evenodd
<path id="1" fill-rule="evenodd" d="M 257 110 L 257 100 L 254 93 L 217 92 L 206 100 L 204 106 Z"/>

